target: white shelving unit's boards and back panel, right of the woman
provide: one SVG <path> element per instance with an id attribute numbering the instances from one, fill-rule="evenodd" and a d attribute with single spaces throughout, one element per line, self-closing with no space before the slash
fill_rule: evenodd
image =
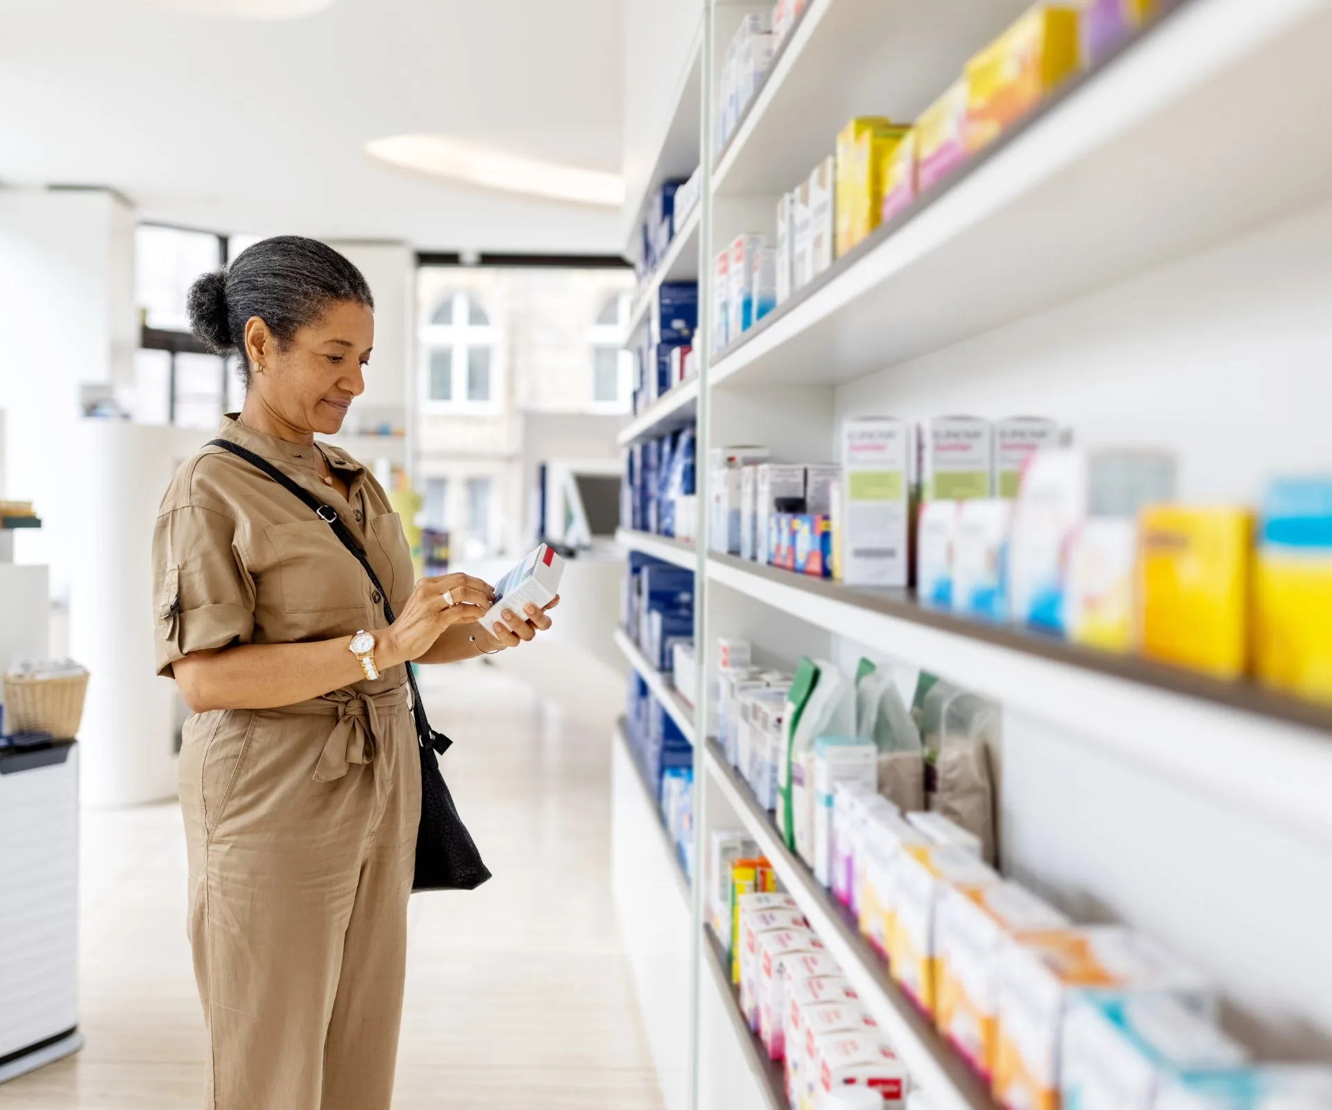
<path id="1" fill-rule="evenodd" d="M 1332 145 L 1311 107 L 1332 93 L 1332 0 L 1166 0 L 1114 56 L 709 353 L 709 261 L 737 235 L 773 235 L 778 196 L 848 119 L 914 119 L 1028 5 L 809 0 L 713 159 L 727 43 L 769 5 L 705 3 L 698 95 L 677 92 L 670 113 L 679 133 L 701 112 L 702 201 L 645 286 L 698 277 L 699 378 L 619 437 L 697 424 L 695 536 L 710 448 L 834 461 L 848 416 L 1048 414 L 1090 446 L 1171 448 L 1193 502 L 1252 504 L 1272 474 L 1328 469 Z M 868 656 L 903 684 L 927 670 L 995 700 L 1002 869 L 1075 919 L 1180 950 L 1261 1058 L 1327 1054 L 1319 922 L 1332 895 L 1308 875 L 1332 874 L 1332 709 L 707 553 L 705 538 L 618 540 L 695 570 L 699 690 L 717 638 L 735 636 L 787 666 Z M 931 1105 L 992 1110 L 707 740 L 709 706 L 679 702 L 618 642 L 694 745 L 695 858 L 710 830 L 747 829 Z M 690 1110 L 783 1107 L 698 889 L 690 945 Z"/>

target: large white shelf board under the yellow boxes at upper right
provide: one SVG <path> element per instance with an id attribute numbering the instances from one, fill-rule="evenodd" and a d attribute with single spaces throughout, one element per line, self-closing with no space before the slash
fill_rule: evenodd
<path id="1" fill-rule="evenodd" d="M 1332 97 L 1329 48 L 1328 0 L 1180 0 L 714 357 L 710 382 L 854 380 L 1325 200 L 1332 147 L 1305 107 Z"/>

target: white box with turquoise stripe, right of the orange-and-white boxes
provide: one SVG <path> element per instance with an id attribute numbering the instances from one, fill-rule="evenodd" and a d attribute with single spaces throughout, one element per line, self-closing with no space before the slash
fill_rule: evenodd
<path id="1" fill-rule="evenodd" d="M 1078 998 L 1060 1037 L 1064 1106 L 1155 1110 L 1168 1079 L 1233 1073 L 1240 1045 L 1168 994 Z"/>

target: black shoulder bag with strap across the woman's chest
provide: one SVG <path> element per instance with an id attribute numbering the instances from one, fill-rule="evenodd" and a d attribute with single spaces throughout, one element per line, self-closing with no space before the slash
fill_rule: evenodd
<path id="1" fill-rule="evenodd" d="M 333 529 L 333 534 L 342 541 L 342 546 L 356 556 L 365 573 L 384 598 L 384 618 L 392 625 L 394 621 L 393 606 L 389 604 L 389 592 L 380 585 L 378 577 L 365 550 L 356 541 L 356 536 L 342 522 L 337 509 L 325 505 L 310 493 L 302 489 L 286 474 L 273 466 L 266 458 L 261 458 L 252 450 L 246 450 L 229 440 L 212 440 L 209 446 L 229 450 L 238 458 L 244 458 L 252 466 L 258 468 L 288 492 L 300 497 L 314 514 Z M 442 733 L 430 728 L 425 716 L 425 706 L 421 704 L 421 692 L 417 689 L 416 676 L 412 673 L 412 664 L 406 664 L 408 684 L 412 686 L 412 714 L 416 718 L 417 748 L 421 753 L 421 824 L 417 828 L 417 859 L 416 875 L 412 879 L 413 890 L 476 890 L 490 878 L 490 870 L 481 859 L 481 853 L 458 817 L 458 810 L 453 805 L 453 796 L 440 774 L 440 760 L 453 744 Z"/>

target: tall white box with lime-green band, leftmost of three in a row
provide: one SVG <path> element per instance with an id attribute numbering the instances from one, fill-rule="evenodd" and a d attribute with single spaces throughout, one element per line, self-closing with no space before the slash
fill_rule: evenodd
<path id="1" fill-rule="evenodd" d="M 910 578 L 914 432 L 894 417 L 842 425 L 842 581 L 848 586 L 906 586 Z"/>

